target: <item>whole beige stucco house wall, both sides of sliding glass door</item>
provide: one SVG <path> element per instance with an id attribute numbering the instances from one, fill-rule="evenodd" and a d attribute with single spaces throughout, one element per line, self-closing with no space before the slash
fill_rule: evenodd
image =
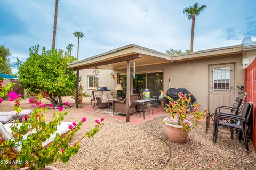
<path id="1" fill-rule="evenodd" d="M 174 62 L 166 64 L 157 64 L 143 67 L 136 67 L 135 72 L 147 71 L 163 71 L 163 90 L 167 90 L 168 80 L 171 80 L 171 86 L 177 88 L 186 88 L 195 96 L 201 108 L 208 108 L 209 101 L 209 65 L 235 63 L 235 84 L 231 86 L 235 88 L 235 94 L 238 92 L 236 85 L 244 85 L 244 70 L 242 68 L 243 54 L 234 54 L 226 56 L 218 56 L 211 58 L 202 58 L 198 60 L 183 62 Z M 157 62 L 157 61 L 156 61 Z M 93 75 L 93 70 L 81 70 L 82 83 L 85 90 L 87 89 L 87 75 Z M 99 70 L 99 86 L 106 86 L 109 90 L 113 90 L 117 83 L 117 73 L 126 73 L 126 69 L 122 70 Z M 133 69 L 131 68 L 131 71 Z M 115 75 L 115 79 L 110 78 L 110 74 Z"/>

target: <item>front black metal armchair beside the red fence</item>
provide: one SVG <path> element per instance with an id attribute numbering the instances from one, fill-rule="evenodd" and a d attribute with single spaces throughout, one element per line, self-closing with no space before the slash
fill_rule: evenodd
<path id="1" fill-rule="evenodd" d="M 216 121 L 214 124 L 214 132 L 213 132 L 213 142 L 216 143 L 217 137 L 218 137 L 218 128 L 219 126 L 225 127 L 225 128 L 230 128 L 230 129 L 235 129 L 239 131 L 239 140 L 241 138 L 241 135 L 243 134 L 243 140 L 244 140 L 244 145 L 245 145 L 245 150 L 249 151 L 248 147 L 248 140 L 247 140 L 247 134 L 246 134 L 246 128 L 247 124 L 249 123 L 249 120 L 252 115 L 252 107 L 253 104 L 251 102 L 245 103 L 242 109 L 241 115 L 234 115 L 230 113 L 219 113 L 216 116 Z M 228 123 L 228 122 L 221 122 L 221 119 L 231 119 L 237 121 L 236 124 L 234 123 Z M 241 134 L 242 132 L 242 134 Z"/>

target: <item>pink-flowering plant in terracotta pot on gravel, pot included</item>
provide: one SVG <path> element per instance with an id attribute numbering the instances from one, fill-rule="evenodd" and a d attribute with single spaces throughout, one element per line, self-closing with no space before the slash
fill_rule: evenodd
<path id="1" fill-rule="evenodd" d="M 164 126 L 168 138 L 175 143 L 184 143 L 187 141 L 189 131 L 197 126 L 198 120 L 206 115 L 206 109 L 199 111 L 200 104 L 191 104 L 191 95 L 179 92 L 179 99 L 174 101 L 172 98 L 164 94 L 163 96 L 169 100 L 166 104 L 165 111 L 169 117 L 164 119 Z"/>

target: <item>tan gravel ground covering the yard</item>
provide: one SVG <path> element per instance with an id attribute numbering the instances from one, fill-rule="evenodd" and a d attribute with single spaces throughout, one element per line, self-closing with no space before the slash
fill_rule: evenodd
<path id="1" fill-rule="evenodd" d="M 84 99 L 84 105 L 90 104 Z M 74 99 L 64 97 L 63 101 Z M 43 102 L 48 103 L 47 100 Z M 22 109 L 31 108 L 28 99 L 21 101 Z M 1 111 L 12 111 L 13 103 L 0 104 Z M 47 111 L 50 120 L 54 111 Z M 74 135 L 71 142 L 82 138 L 86 130 L 94 126 L 99 115 L 86 113 L 71 107 L 64 121 L 87 122 Z M 219 133 L 216 144 L 212 143 L 212 131 L 205 133 L 205 123 L 191 131 L 185 144 L 172 143 L 167 139 L 162 124 L 164 116 L 135 125 L 105 117 L 105 125 L 92 139 L 83 139 L 81 149 L 67 164 L 55 163 L 59 169 L 255 169 L 256 154 L 252 143 L 246 154 L 244 145 L 227 134 Z"/>

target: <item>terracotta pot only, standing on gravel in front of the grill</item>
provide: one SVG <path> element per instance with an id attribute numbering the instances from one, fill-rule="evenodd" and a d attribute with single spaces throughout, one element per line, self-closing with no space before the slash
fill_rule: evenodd
<path id="1" fill-rule="evenodd" d="M 167 123 L 166 121 L 169 120 L 169 118 L 164 119 L 164 128 L 167 133 L 167 137 L 169 138 L 170 141 L 174 143 L 185 143 L 188 139 L 188 132 L 185 130 L 182 130 L 182 126 L 179 125 L 174 125 Z M 170 122 L 177 122 L 177 120 L 169 120 Z M 189 121 L 188 121 L 189 122 Z M 190 126 L 192 123 L 190 122 Z"/>

